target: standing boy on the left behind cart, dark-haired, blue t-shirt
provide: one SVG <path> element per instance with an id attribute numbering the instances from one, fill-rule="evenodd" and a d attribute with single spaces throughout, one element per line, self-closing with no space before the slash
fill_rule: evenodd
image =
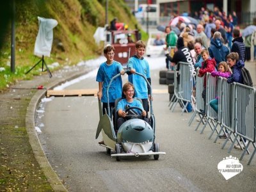
<path id="1" fill-rule="evenodd" d="M 104 47 L 104 56 L 107 61 L 100 64 L 96 81 L 99 82 L 99 92 L 97 93 L 98 98 L 102 102 L 102 112 L 105 114 L 105 109 L 108 112 L 108 98 L 107 89 L 111 78 L 116 76 L 118 73 L 124 75 L 125 70 L 121 63 L 114 60 L 115 48 L 111 45 Z M 109 108 L 115 107 L 115 100 L 122 96 L 122 78 L 121 76 L 114 79 L 109 87 Z"/>

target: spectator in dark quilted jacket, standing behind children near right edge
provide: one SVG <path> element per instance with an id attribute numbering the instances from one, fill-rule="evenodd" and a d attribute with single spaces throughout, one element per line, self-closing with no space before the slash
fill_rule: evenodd
<path id="1" fill-rule="evenodd" d="M 239 60 L 245 61 L 245 45 L 243 37 L 240 36 L 240 30 L 234 28 L 232 35 L 234 37 L 234 40 L 232 41 L 233 44 L 231 46 L 230 52 L 237 52 L 239 55 Z"/>

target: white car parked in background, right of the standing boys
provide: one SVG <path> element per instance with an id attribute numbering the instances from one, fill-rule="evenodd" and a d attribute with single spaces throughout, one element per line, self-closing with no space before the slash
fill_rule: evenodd
<path id="1" fill-rule="evenodd" d="M 156 45 L 154 43 L 157 36 L 160 36 L 160 39 L 162 40 L 163 44 Z M 149 38 L 148 38 L 147 47 L 146 47 L 146 55 L 147 56 L 164 54 L 165 47 L 166 47 L 165 34 L 163 32 L 157 31 L 154 33 L 153 32 L 149 33 Z"/>

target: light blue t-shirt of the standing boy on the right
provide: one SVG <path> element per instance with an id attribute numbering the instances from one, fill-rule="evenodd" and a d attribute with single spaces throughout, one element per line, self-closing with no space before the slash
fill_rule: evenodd
<path id="1" fill-rule="evenodd" d="M 128 68 L 134 68 L 136 72 L 143 74 L 147 79 L 150 78 L 150 70 L 148 61 L 144 58 L 139 59 L 136 56 L 132 56 L 128 61 Z M 128 76 L 129 82 L 134 85 L 135 97 L 140 99 L 148 99 L 148 87 L 147 82 L 143 77 L 136 74 L 131 74 Z"/>

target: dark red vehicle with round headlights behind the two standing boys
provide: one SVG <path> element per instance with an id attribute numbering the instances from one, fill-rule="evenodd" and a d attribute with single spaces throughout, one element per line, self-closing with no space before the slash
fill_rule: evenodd
<path id="1" fill-rule="evenodd" d="M 115 60 L 126 65 L 129 57 L 135 54 L 135 44 L 138 39 L 138 30 L 108 31 L 106 44 L 115 48 Z"/>

